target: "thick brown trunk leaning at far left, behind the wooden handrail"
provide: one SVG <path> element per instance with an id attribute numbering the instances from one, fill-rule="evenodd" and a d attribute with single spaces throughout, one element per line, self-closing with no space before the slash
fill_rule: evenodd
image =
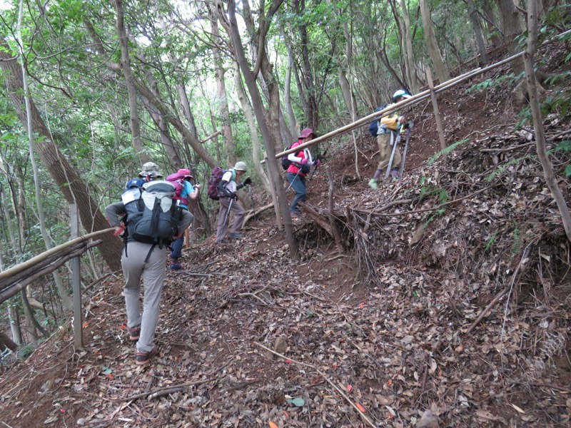
<path id="1" fill-rule="evenodd" d="M 0 68 L 4 71 L 4 82 L 8 95 L 16 110 L 21 123 L 26 123 L 26 109 L 24 108 L 22 74 L 19 69 L 16 58 L 9 54 L 9 46 L 0 43 Z M 61 192 L 68 203 L 76 203 L 81 216 L 81 224 L 88 232 L 96 230 L 104 230 L 109 227 L 107 220 L 98 203 L 91 198 L 89 188 L 85 185 L 76 169 L 73 168 L 64 156 L 61 155 L 59 149 L 51 139 L 44 120 L 41 118 L 33 100 L 31 104 L 31 125 L 34 133 L 43 137 L 42 141 L 34 144 L 36 153 L 39 154 L 41 163 L 44 164 L 55 183 L 59 186 Z M 101 236 L 103 243 L 98 246 L 101 255 L 111 270 L 121 269 L 121 240 L 114 237 L 111 233 Z"/>

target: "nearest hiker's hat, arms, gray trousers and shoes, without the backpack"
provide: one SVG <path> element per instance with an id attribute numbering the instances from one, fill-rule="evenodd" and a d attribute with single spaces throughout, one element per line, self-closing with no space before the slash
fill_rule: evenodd
<path id="1" fill-rule="evenodd" d="M 148 167 L 141 170 L 141 177 L 154 180 L 162 177 L 155 169 Z M 184 232 L 193 220 L 193 215 L 188 211 L 181 210 L 181 218 L 177 222 L 178 231 Z M 109 224 L 116 229 L 117 233 L 123 232 L 121 217 L 126 213 L 123 202 L 107 205 L 105 213 Z M 127 254 L 128 248 L 128 254 Z M 155 330 L 158 322 L 158 308 L 161 302 L 163 281 L 166 276 L 166 246 L 159 248 L 158 245 L 139 243 L 131 236 L 126 238 L 126 245 L 121 253 L 121 267 L 125 276 L 125 306 L 127 311 L 127 330 L 130 340 L 137 341 L 136 364 L 147 364 L 158 348 L 154 344 Z M 139 298 L 141 295 L 141 279 L 145 287 L 143 297 L 143 313 Z"/>

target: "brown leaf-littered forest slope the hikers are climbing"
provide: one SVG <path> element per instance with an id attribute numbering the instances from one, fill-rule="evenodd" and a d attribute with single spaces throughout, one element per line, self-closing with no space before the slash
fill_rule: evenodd
<path id="1" fill-rule="evenodd" d="M 566 54 L 549 47 L 545 67 Z M 507 73 L 439 96 L 448 144 L 463 141 L 447 160 L 428 162 L 434 117 L 415 106 L 405 174 L 378 190 L 373 138 L 358 139 L 359 173 L 350 138 L 331 143 L 295 221 L 297 262 L 272 211 L 242 240 L 185 250 L 147 366 L 116 272 L 84 297 L 84 350 L 67 325 L 1 374 L 3 426 L 569 426 L 570 245 L 512 88 L 466 93 Z M 547 116 L 550 147 L 569 119 Z M 567 153 L 552 159 L 564 177 Z"/>

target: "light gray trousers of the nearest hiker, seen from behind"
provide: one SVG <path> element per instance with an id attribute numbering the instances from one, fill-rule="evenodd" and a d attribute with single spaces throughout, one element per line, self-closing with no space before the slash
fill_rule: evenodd
<path id="1" fill-rule="evenodd" d="M 137 342 L 137 350 L 148 352 L 153 350 L 158 310 L 161 304 L 161 293 L 166 276 L 166 247 L 153 248 L 153 252 L 145 258 L 151 250 L 151 244 L 128 241 L 121 254 L 121 266 L 125 275 L 125 305 L 127 308 L 127 326 L 130 328 L 141 326 L 141 336 Z M 125 250 L 127 255 L 125 255 Z M 145 294 L 143 297 L 143 313 L 141 314 L 141 279 Z"/>

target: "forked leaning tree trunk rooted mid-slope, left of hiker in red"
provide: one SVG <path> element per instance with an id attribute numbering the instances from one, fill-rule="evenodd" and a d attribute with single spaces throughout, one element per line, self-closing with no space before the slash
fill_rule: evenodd
<path id="1" fill-rule="evenodd" d="M 268 19 L 271 19 L 270 11 L 275 11 L 281 5 L 283 0 L 273 0 L 269 6 Z M 260 16 L 264 16 L 262 13 Z M 280 108 L 280 98 L 278 92 L 278 86 L 273 76 L 271 76 L 271 64 L 266 56 L 266 29 L 263 28 L 263 23 L 261 23 L 261 29 L 259 30 L 260 40 L 258 40 L 259 46 L 263 46 L 261 58 L 261 71 L 266 83 L 268 84 L 268 90 L 270 94 L 270 103 L 268 104 L 268 118 L 263 111 L 262 98 L 260 96 L 260 91 L 258 86 L 256 86 L 256 81 L 254 80 L 253 73 L 248 66 L 248 60 L 244 53 L 243 44 L 241 41 L 240 33 L 238 31 L 238 23 L 236 22 L 236 1 L 228 1 L 228 17 L 230 20 L 229 30 L 232 39 L 232 44 L 236 54 L 236 59 L 240 65 L 240 69 L 243 73 L 244 80 L 246 81 L 246 86 L 248 86 L 248 91 L 253 103 L 254 113 L 256 114 L 256 119 L 258 120 L 258 127 L 262 135 L 264 146 L 266 146 L 266 152 L 268 154 L 268 170 L 270 172 L 270 179 L 273 182 L 273 187 L 276 189 L 278 205 L 280 208 L 281 217 L 284 223 L 285 238 L 288 241 L 288 247 L 290 251 L 290 256 L 292 258 L 298 258 L 298 242 L 295 240 L 295 235 L 293 234 L 293 224 L 291 221 L 289 209 L 288 209 L 288 199 L 285 196 L 285 189 L 281 184 L 281 175 L 278 170 L 278 162 L 276 161 L 276 138 L 279 137 L 279 130 L 276 129 L 276 123 L 278 123 L 278 112 Z"/>

